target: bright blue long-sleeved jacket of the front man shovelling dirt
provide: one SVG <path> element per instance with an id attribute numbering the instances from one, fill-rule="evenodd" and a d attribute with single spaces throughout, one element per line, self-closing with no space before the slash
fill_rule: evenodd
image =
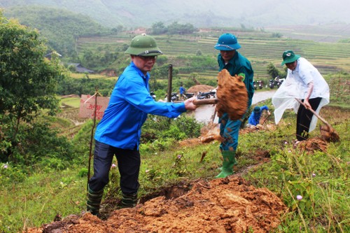
<path id="1" fill-rule="evenodd" d="M 141 127 L 148 113 L 176 118 L 186 112 L 183 103 L 154 101 L 149 94 L 149 78 L 149 73 L 145 76 L 133 62 L 127 66 L 113 89 L 94 139 L 117 148 L 139 148 Z"/>

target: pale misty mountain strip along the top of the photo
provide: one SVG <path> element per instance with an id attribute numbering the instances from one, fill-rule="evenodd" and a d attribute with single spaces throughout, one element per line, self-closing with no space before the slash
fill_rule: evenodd
<path id="1" fill-rule="evenodd" d="M 0 0 L 0 7 L 49 6 L 87 15 L 106 27 L 151 27 L 155 22 L 195 27 L 270 27 L 350 23 L 349 0 Z"/>

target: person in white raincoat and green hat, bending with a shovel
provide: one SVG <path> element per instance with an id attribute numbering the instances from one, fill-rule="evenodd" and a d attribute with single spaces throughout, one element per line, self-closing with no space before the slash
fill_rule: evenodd
<path id="1" fill-rule="evenodd" d="M 321 73 L 307 59 L 295 55 L 292 50 L 284 51 L 282 57 L 281 65 L 286 64 L 288 74 L 272 97 L 275 108 L 274 120 L 277 125 L 283 112 L 288 108 L 294 108 L 297 113 L 296 143 L 298 143 L 306 140 L 308 133 L 316 127 L 317 118 L 307 108 L 319 113 L 320 109 L 329 103 L 330 92 Z M 307 108 L 299 104 L 295 98 L 304 102 Z"/>

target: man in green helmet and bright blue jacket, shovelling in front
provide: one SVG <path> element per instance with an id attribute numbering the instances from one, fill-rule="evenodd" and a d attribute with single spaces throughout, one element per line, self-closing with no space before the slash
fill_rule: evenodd
<path id="1" fill-rule="evenodd" d="M 139 189 L 141 127 L 148 113 L 176 118 L 187 110 L 195 110 L 193 99 L 183 103 L 156 102 L 149 93 L 148 80 L 158 55 L 162 52 L 155 39 L 146 34 L 135 36 L 125 51 L 132 62 L 118 78 L 109 106 L 94 134 L 94 175 L 87 190 L 87 211 L 97 215 L 104 187 L 109 183 L 113 156 L 118 160 L 122 207 L 137 204 Z"/>

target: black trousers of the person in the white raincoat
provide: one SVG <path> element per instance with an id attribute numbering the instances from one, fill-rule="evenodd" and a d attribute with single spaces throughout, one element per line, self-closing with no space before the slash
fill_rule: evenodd
<path id="1" fill-rule="evenodd" d="M 311 108 L 314 111 L 318 108 L 321 99 L 321 97 L 309 99 Z M 304 102 L 304 99 L 302 99 L 302 102 Z M 309 137 L 309 127 L 313 115 L 314 113 L 311 113 L 311 111 L 307 110 L 302 104 L 300 104 L 300 107 L 297 110 L 297 141 L 303 141 Z"/>

